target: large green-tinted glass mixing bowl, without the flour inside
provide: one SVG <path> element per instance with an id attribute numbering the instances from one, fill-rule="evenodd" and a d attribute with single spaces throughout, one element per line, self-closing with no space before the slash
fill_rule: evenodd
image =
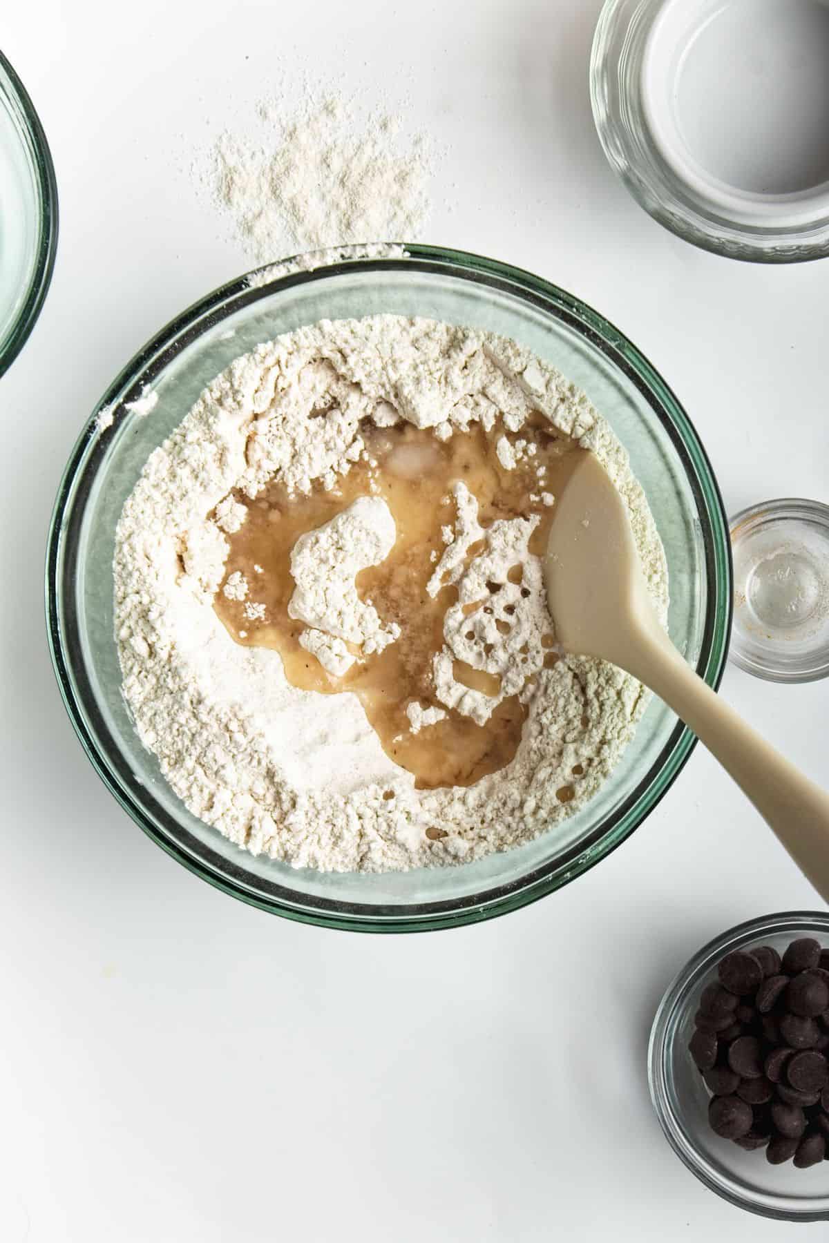
<path id="1" fill-rule="evenodd" d="M 190 307 L 124 368 L 60 487 L 48 539 L 48 636 L 57 679 L 99 774 L 153 840 L 226 892 L 297 920 L 369 931 L 451 927 L 531 902 L 603 859 L 656 805 L 692 735 L 654 700 L 611 778 L 554 833 L 456 868 L 318 873 L 254 855 L 191 815 L 142 747 L 121 696 L 113 638 L 114 528 L 152 450 L 231 359 L 322 318 L 429 316 L 502 333 L 583 388 L 626 446 L 667 553 L 670 633 L 713 686 L 731 622 L 728 526 L 707 457 L 650 363 L 569 293 L 492 260 L 429 246 L 406 257 L 240 277 Z M 124 409 L 150 384 L 152 414 Z"/>

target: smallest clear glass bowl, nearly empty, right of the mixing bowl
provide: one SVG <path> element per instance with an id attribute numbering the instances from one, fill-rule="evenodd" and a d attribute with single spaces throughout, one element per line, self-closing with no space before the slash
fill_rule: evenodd
<path id="1" fill-rule="evenodd" d="M 829 505 L 764 501 L 730 522 L 731 659 L 773 682 L 829 674 Z"/>

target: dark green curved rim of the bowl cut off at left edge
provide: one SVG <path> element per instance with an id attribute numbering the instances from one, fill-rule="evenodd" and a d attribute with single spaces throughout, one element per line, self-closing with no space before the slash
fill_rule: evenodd
<path id="1" fill-rule="evenodd" d="M 32 155 L 35 177 L 40 191 L 37 257 L 29 282 L 26 298 L 5 344 L 0 349 L 0 375 L 2 375 L 11 367 L 29 339 L 29 334 L 35 327 L 46 293 L 48 292 L 55 268 L 55 255 L 57 252 L 58 210 L 55 165 L 52 164 L 52 154 L 46 142 L 44 127 L 35 112 L 34 103 L 29 98 L 29 92 L 2 52 L 0 52 L 0 83 L 6 88 L 9 97 L 17 107 L 29 134 L 31 142 L 30 154 Z"/>

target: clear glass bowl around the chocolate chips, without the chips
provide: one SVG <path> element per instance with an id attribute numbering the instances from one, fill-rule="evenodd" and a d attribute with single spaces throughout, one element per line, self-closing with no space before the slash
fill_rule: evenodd
<path id="1" fill-rule="evenodd" d="M 772 1166 L 763 1150 L 744 1152 L 708 1126 L 711 1099 L 687 1045 L 700 993 L 732 950 L 771 945 L 781 953 L 798 936 L 829 946 L 829 914 L 787 911 L 740 924 L 708 942 L 665 993 L 650 1033 L 648 1079 L 662 1131 L 691 1173 L 738 1208 L 787 1222 L 829 1221 L 829 1161 L 808 1170 Z"/>

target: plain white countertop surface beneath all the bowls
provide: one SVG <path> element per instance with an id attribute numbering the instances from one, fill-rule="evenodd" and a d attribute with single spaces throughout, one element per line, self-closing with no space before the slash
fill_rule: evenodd
<path id="1" fill-rule="evenodd" d="M 260 914 L 168 859 L 86 761 L 46 653 L 61 470 L 138 347 L 250 266 L 194 198 L 188 153 L 247 114 L 280 58 L 410 96 L 408 123 L 449 148 L 428 240 L 528 267 L 618 323 L 686 405 L 731 511 L 828 498 L 829 264 L 733 264 L 634 204 L 593 131 L 598 9 L 4 14 L 61 195 L 52 288 L 0 382 L 4 1243 L 802 1237 L 697 1183 L 648 1096 L 650 1019 L 681 963 L 743 919 L 820 905 L 706 753 L 562 892 L 451 933 L 348 936 Z M 825 779 L 829 684 L 730 667 L 722 694 Z"/>

